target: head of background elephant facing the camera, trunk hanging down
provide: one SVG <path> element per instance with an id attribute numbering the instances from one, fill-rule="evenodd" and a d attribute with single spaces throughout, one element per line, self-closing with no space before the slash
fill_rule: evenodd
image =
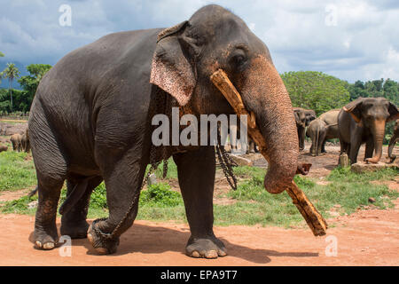
<path id="1" fill-rule="evenodd" d="M 365 161 L 379 162 L 385 125 L 399 117 L 397 107 L 385 98 L 358 98 L 343 106 L 343 110 L 352 116 L 357 125 L 369 130 L 372 135 L 375 154 Z"/>

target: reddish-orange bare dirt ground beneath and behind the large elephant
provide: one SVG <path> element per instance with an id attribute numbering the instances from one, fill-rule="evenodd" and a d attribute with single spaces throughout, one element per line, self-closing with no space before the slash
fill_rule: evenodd
<path id="1" fill-rule="evenodd" d="M 328 153 L 321 157 L 312 157 L 308 151 L 300 157 L 301 162 L 313 164 L 309 177 L 317 177 L 320 183 L 336 166 L 340 147 L 327 146 L 326 150 Z M 384 147 L 383 157 L 386 153 Z M 395 154 L 399 154 L 398 147 Z M 363 155 L 364 146 L 359 157 Z M 252 159 L 255 164 L 264 163 L 254 154 Z M 386 184 L 399 191 L 399 177 Z M 223 178 L 216 178 L 216 193 L 225 190 Z M 19 198 L 26 192 L 0 193 L 0 201 Z M 228 256 L 196 259 L 184 255 L 190 237 L 185 224 L 136 221 L 121 236 L 116 254 L 98 256 L 84 239 L 73 240 L 68 255 L 65 247 L 51 251 L 34 248 L 35 217 L 0 214 L 0 265 L 399 265 L 399 199 L 394 209 L 358 210 L 327 222 L 330 228 L 324 237 L 314 237 L 305 225 L 300 229 L 216 226 L 215 235 L 224 242 Z"/>

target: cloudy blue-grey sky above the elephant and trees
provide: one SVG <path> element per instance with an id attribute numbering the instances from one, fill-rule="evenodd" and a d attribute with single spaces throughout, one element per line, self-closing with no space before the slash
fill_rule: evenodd
<path id="1" fill-rule="evenodd" d="M 59 7 L 71 7 L 71 26 Z M 54 65 L 106 34 L 170 27 L 205 4 L 236 13 L 270 49 L 278 72 L 323 71 L 353 83 L 399 81 L 399 1 L 395 0 L 0 0 L 0 69 Z M 23 72 L 25 74 L 26 72 Z M 3 86 L 6 82 L 3 81 Z"/>

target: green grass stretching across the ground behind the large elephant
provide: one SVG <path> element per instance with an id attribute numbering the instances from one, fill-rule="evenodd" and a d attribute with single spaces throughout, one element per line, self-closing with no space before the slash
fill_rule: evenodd
<path id="1" fill-rule="evenodd" d="M 28 154 L 3 152 L 0 154 L 0 190 L 15 190 L 35 186 L 35 170 Z M 1 165 L 6 164 L 7 167 Z M 161 169 L 161 166 L 160 166 Z M 168 161 L 168 176 L 160 183 L 146 186 L 140 194 L 137 219 L 177 220 L 186 222 L 184 202 L 181 194 L 172 190 L 168 181 L 176 184 L 177 170 L 172 159 Z M 236 167 L 234 172 L 239 177 L 237 191 L 222 193 L 218 198 L 228 199 L 229 205 L 214 205 L 215 225 L 280 225 L 290 227 L 304 225 L 303 218 L 287 193 L 273 195 L 263 188 L 264 169 L 255 167 Z M 161 170 L 155 171 L 158 179 Z M 326 177 L 331 183 L 317 185 L 308 177 L 295 177 L 295 182 L 308 195 L 317 209 L 325 217 L 330 217 L 331 210 L 339 205 L 338 213 L 351 214 L 356 209 L 370 206 L 369 198 L 379 209 L 393 206 L 392 200 L 399 193 L 389 190 L 387 185 L 372 181 L 395 180 L 399 170 L 387 169 L 371 173 L 356 174 L 349 168 L 336 168 Z M 66 188 L 61 193 L 62 203 L 66 198 Z M 23 196 L 16 201 L 0 203 L 3 213 L 34 214 L 28 204 L 37 197 Z M 91 195 L 89 217 L 106 217 L 106 186 L 98 185 Z"/>

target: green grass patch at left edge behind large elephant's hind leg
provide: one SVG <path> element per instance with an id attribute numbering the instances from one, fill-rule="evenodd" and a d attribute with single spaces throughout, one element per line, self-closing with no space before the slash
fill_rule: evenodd
<path id="1" fill-rule="evenodd" d="M 37 183 L 30 154 L 6 151 L 0 153 L 0 192 L 19 190 Z"/>

